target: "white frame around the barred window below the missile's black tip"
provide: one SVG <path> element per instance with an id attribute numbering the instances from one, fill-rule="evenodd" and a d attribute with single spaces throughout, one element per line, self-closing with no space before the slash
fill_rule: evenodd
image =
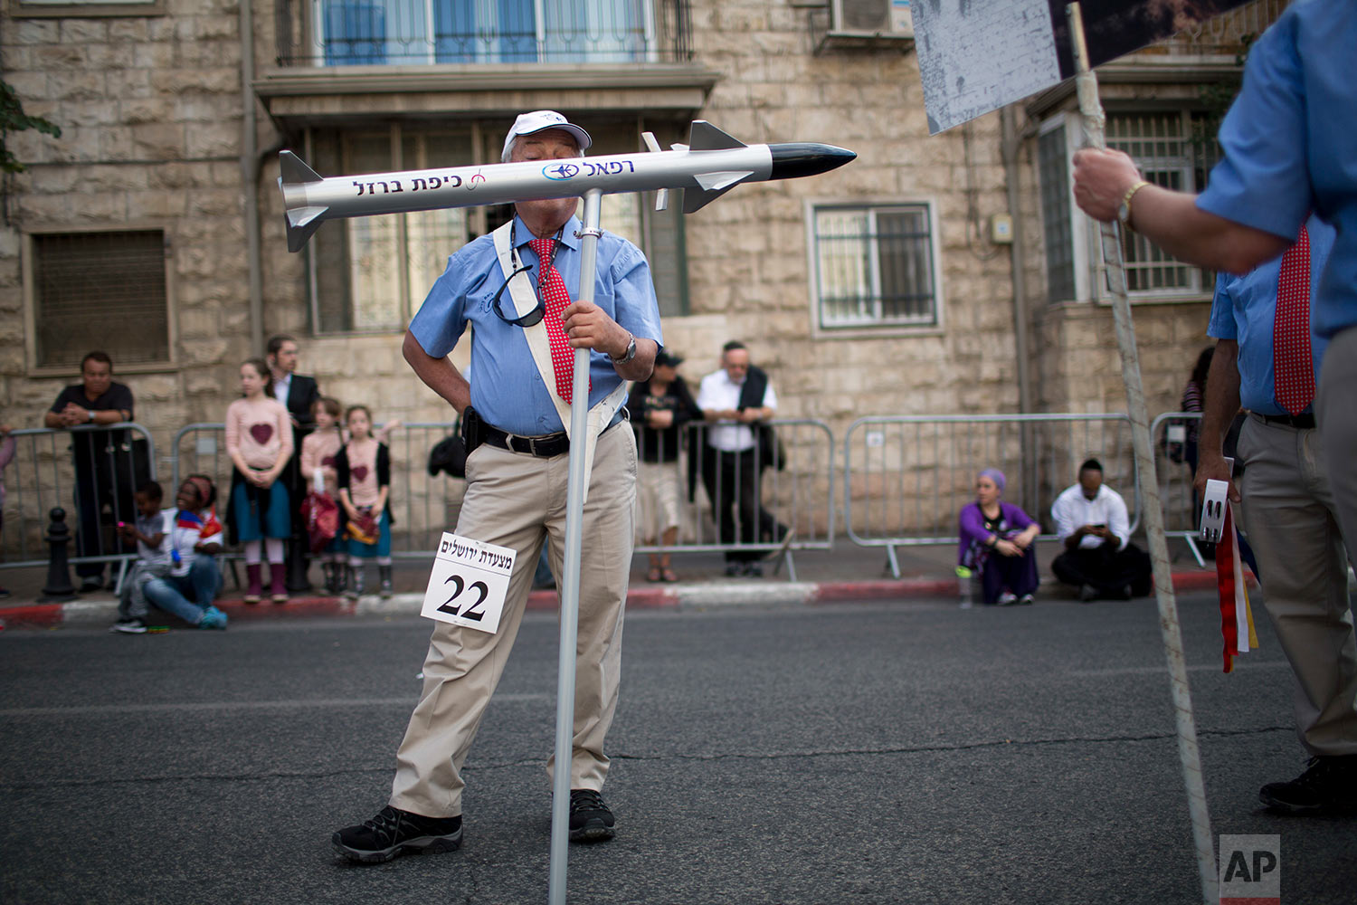
<path id="1" fill-rule="evenodd" d="M 925 208 L 930 237 L 930 267 L 932 269 L 934 320 L 927 324 L 860 323 L 843 327 L 824 326 L 820 297 L 820 254 L 816 235 L 816 213 L 825 209 L 867 210 L 877 213 L 893 208 Z M 811 336 L 817 339 L 874 339 L 882 336 L 931 336 L 946 330 L 946 290 L 942 271 L 942 232 L 938 201 L 932 197 L 868 197 L 868 198 L 807 198 L 803 206 L 806 223 L 806 273 Z M 873 280 L 878 280 L 879 255 L 871 261 Z"/>

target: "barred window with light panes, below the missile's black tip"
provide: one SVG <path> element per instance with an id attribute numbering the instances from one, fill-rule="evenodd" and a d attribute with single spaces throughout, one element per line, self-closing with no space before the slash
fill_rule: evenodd
<path id="1" fill-rule="evenodd" d="M 938 323 L 931 205 L 817 206 L 811 223 L 821 328 Z"/>

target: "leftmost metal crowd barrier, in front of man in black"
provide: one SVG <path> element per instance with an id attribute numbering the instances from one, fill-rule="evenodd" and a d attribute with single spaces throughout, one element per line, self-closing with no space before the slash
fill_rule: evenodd
<path id="1" fill-rule="evenodd" d="M 65 510 L 73 566 L 115 563 L 121 582 L 134 547 L 115 528 L 136 520 L 133 494 L 156 478 L 151 431 L 136 422 L 14 430 L 15 456 L 4 472 L 0 569 L 46 566 L 50 510 Z M 79 460 L 79 464 L 77 464 Z M 167 491 L 172 503 L 172 491 Z M 170 503 L 167 503 L 170 505 Z"/>

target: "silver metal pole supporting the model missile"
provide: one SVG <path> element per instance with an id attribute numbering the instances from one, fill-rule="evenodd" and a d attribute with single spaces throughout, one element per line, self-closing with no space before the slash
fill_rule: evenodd
<path id="1" fill-rule="evenodd" d="M 603 190 L 585 193 L 579 247 L 579 301 L 593 301 Z M 570 765 L 575 734 L 575 639 L 579 634 L 579 551 L 585 510 L 585 444 L 589 433 L 589 350 L 575 349 L 570 396 L 570 483 L 566 486 L 566 563 L 560 577 L 560 650 L 556 666 L 556 757 L 551 795 L 551 868 L 547 897 L 566 905 L 566 851 L 570 841 Z"/>

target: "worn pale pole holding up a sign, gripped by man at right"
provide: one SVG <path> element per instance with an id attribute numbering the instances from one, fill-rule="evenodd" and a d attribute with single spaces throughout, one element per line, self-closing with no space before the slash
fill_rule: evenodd
<path id="1" fill-rule="evenodd" d="M 1088 68 L 1088 49 L 1084 43 L 1084 22 L 1077 3 L 1065 7 L 1069 16 L 1069 38 L 1075 50 L 1079 111 L 1084 117 L 1084 132 L 1094 148 L 1106 147 L 1102 102 L 1098 99 L 1098 77 Z M 1126 267 L 1121 256 L 1118 224 L 1105 223 L 1099 229 L 1103 265 L 1111 290 L 1113 320 L 1117 326 L 1117 345 L 1121 347 L 1121 376 L 1126 384 L 1126 414 L 1130 417 L 1130 438 L 1136 449 L 1136 471 L 1144 498 L 1145 536 L 1149 540 L 1149 559 L 1155 569 L 1155 596 L 1159 601 L 1159 632 L 1168 661 L 1172 687 L 1174 715 L 1178 725 L 1178 757 L 1182 761 L 1183 784 L 1187 787 L 1187 811 L 1191 817 L 1193 839 L 1197 847 L 1197 871 L 1201 877 L 1201 897 L 1206 905 L 1220 901 L 1216 874 L 1216 853 L 1212 845 L 1210 815 L 1206 811 L 1206 790 L 1201 776 L 1201 752 L 1197 748 L 1197 725 L 1191 712 L 1191 693 L 1187 689 L 1187 666 L 1183 659 L 1183 639 L 1178 625 L 1178 601 L 1174 598 L 1172 575 L 1168 571 L 1168 541 L 1164 539 L 1164 510 L 1159 502 L 1159 476 L 1149 448 L 1149 417 L 1145 393 L 1140 381 L 1140 357 L 1136 349 L 1136 326 L 1130 320 L 1130 301 L 1126 297 Z"/>

